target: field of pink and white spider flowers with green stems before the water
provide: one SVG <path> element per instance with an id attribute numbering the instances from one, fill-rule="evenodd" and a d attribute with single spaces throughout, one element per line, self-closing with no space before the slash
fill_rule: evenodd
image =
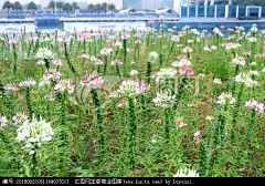
<path id="1" fill-rule="evenodd" d="M 265 30 L 149 24 L 0 34 L 1 177 L 264 176 Z"/>

